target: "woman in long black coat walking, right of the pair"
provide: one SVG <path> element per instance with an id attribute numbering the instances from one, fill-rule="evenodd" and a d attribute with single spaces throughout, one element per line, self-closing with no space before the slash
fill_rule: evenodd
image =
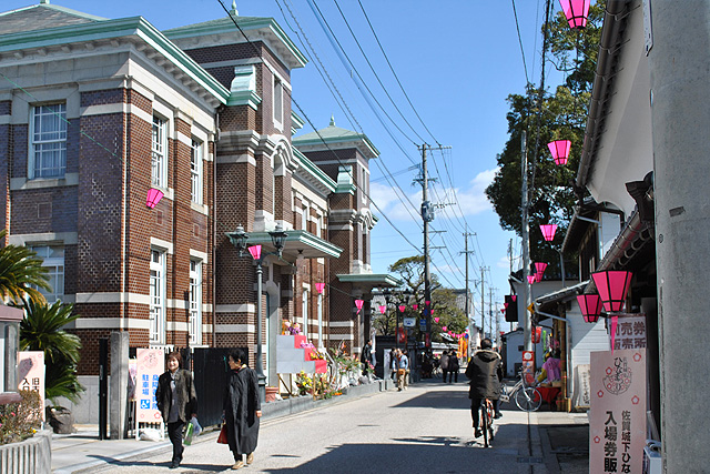
<path id="1" fill-rule="evenodd" d="M 262 405 L 258 400 L 258 381 L 256 372 L 243 362 L 246 355 L 243 350 L 230 352 L 230 375 L 224 390 L 224 421 L 230 451 L 234 454 L 233 470 L 244 466 L 242 458 L 246 454 L 246 464 L 254 462 L 254 450 L 258 438 L 258 418 Z"/>

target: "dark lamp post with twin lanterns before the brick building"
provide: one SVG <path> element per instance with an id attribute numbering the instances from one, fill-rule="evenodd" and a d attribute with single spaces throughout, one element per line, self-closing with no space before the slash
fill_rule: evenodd
<path id="1" fill-rule="evenodd" d="M 261 245 L 247 248 L 248 234 L 244 232 L 242 225 L 237 225 L 235 232 L 227 233 L 227 236 L 239 250 L 240 256 L 244 253 L 244 249 L 248 249 L 248 253 L 256 262 L 256 363 L 254 364 L 254 370 L 256 371 L 256 379 L 258 380 L 258 397 L 262 403 L 264 403 L 266 399 L 266 375 L 264 375 L 264 365 L 262 363 L 262 323 L 264 321 L 262 315 L 262 263 L 268 255 L 276 255 L 281 259 L 284 245 L 286 244 L 286 238 L 288 236 L 281 224 L 276 224 L 276 229 L 273 232 L 268 232 L 268 234 L 276 249 L 275 252 L 262 252 Z M 304 327 L 304 330 L 306 329 Z"/>

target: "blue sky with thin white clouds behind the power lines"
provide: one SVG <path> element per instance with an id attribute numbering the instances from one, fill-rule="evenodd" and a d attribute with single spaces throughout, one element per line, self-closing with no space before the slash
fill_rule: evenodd
<path id="1" fill-rule="evenodd" d="M 227 9 L 231 8 L 231 0 L 223 1 Z M 219 0 L 51 2 L 105 18 L 142 16 L 161 30 L 225 16 Z M 324 24 L 316 20 L 310 2 L 321 10 L 336 40 L 326 37 Z M 363 14 L 361 2 L 396 77 Z M 29 4 L 32 2 L 4 0 L 2 10 Z M 338 4 L 359 47 L 338 12 Z M 527 73 L 536 83 L 539 82 L 544 4 L 539 0 L 516 1 Z M 509 290 L 508 243 L 513 239 L 516 259 L 520 243 L 514 233 L 500 229 L 484 190 L 495 174 L 496 154 L 501 152 L 507 140 L 506 98 L 523 92 L 526 84 L 513 3 L 500 0 L 239 0 L 236 8 L 240 16 L 275 18 L 310 58 L 305 68 L 292 74 L 293 97 L 303 109 L 298 114 L 305 114 L 318 129 L 327 127 L 334 115 L 338 127 L 363 131 L 379 150 L 381 157 L 374 161 L 383 168 L 371 163 L 371 195 L 382 210 L 373 209 L 379 218 L 372 234 L 373 271 L 386 272 L 397 259 L 417 254 L 417 249 L 398 231 L 422 248 L 420 186 L 412 184 L 417 171 L 407 169 L 413 162 L 420 161 L 417 145 L 438 142 L 450 149 L 429 155 L 429 173 L 437 179 L 429 199 L 434 203 L 456 204 L 439 210 L 432 223 L 432 229 L 446 231 L 432 235 L 432 245 L 446 246 L 433 251 L 432 271 L 447 286 L 464 288 L 465 261 L 459 252 L 464 250 L 463 232 L 467 224 L 468 232 L 476 234 L 469 239 L 469 250 L 475 251 L 470 259 L 470 279 L 480 280 L 480 268 L 486 268 L 486 306 L 489 288 L 497 289 L 494 304 L 501 305 L 503 296 Z M 557 2 L 555 8 L 557 12 Z M 313 50 L 305 46 L 306 39 Z M 342 44 L 344 53 L 336 53 L 334 41 Z M 365 51 L 369 64 L 359 48 Z M 344 112 L 343 105 L 328 91 L 316 68 L 320 63 L 352 114 Z M 361 90 L 365 90 L 365 85 L 374 99 L 364 98 Z M 294 110 L 297 109 L 294 107 Z M 300 133 L 312 131 L 306 122 Z M 384 167 L 394 174 L 389 182 L 383 179 Z M 396 191 L 395 182 L 399 186 Z M 414 206 L 406 199 L 399 200 L 402 193 Z M 516 260 L 514 270 L 518 266 Z M 480 285 L 475 289 L 474 300 L 478 321 Z"/>

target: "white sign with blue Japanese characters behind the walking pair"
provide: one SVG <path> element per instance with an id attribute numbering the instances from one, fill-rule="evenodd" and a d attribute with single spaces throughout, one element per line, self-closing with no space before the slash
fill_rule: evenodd
<path id="1" fill-rule="evenodd" d="M 155 389 L 164 372 L 165 353 L 162 349 L 139 349 L 136 355 L 135 420 L 139 423 L 160 423 L 162 417 L 155 402 Z"/>

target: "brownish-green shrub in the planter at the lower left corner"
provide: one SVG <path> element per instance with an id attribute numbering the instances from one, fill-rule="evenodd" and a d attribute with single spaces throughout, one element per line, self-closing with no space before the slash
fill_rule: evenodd
<path id="1" fill-rule="evenodd" d="M 40 394 L 21 390 L 22 401 L 0 405 L 0 444 L 31 437 L 42 424 Z"/>

